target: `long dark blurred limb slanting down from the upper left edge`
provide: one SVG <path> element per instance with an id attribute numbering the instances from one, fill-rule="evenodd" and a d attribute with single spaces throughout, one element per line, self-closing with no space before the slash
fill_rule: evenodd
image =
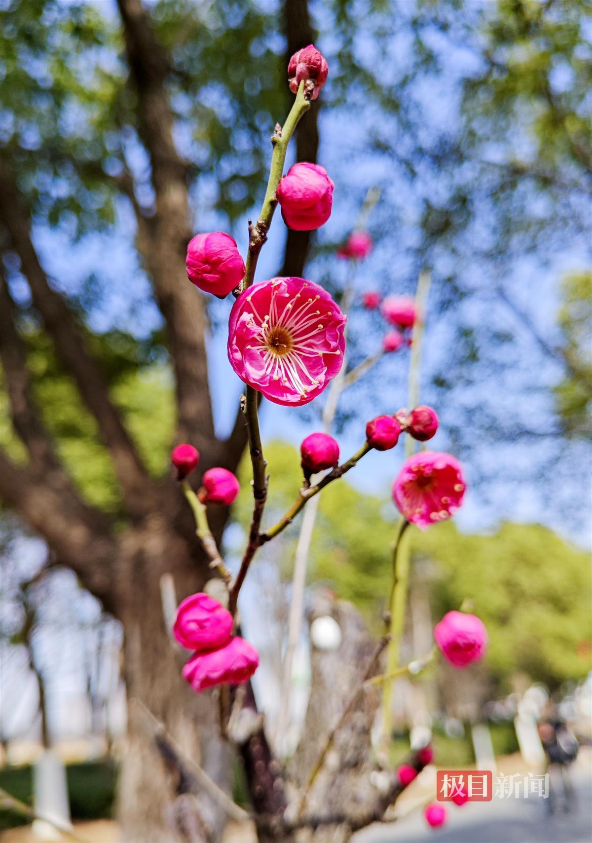
<path id="1" fill-rule="evenodd" d="M 125 506 L 132 515 L 147 512 L 150 480 L 125 430 L 120 413 L 111 403 L 109 389 L 99 366 L 90 357 L 72 312 L 59 293 L 50 287 L 31 240 L 29 217 L 20 200 L 13 176 L 0 173 L 0 220 L 8 230 L 22 270 L 29 282 L 33 303 L 43 317 L 62 362 L 76 381 L 78 391 L 99 425 L 99 432 L 115 466 Z"/>

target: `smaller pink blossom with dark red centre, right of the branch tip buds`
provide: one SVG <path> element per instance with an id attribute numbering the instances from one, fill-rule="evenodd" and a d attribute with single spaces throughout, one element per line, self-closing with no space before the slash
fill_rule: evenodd
<path id="1" fill-rule="evenodd" d="M 403 463 L 392 484 L 392 499 L 411 524 L 427 529 L 456 512 L 466 488 L 456 457 L 420 451 Z"/>

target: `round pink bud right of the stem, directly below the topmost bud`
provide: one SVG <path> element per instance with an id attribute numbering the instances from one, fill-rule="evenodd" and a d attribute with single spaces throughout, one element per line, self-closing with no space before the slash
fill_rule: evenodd
<path id="1" fill-rule="evenodd" d="M 326 223 L 331 216 L 333 186 L 327 170 L 319 164 L 294 164 L 275 191 L 288 228 L 312 231 Z"/>

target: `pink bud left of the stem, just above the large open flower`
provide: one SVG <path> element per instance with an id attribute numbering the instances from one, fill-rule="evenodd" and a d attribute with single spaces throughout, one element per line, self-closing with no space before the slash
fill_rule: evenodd
<path id="1" fill-rule="evenodd" d="M 230 234 L 196 234 L 187 247 L 189 281 L 205 293 L 223 298 L 243 281 L 245 266 Z"/>

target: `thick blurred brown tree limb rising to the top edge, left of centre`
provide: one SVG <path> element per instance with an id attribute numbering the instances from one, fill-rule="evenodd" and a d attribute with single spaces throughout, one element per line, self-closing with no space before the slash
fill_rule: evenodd
<path id="1" fill-rule="evenodd" d="M 211 454 L 215 441 L 205 354 L 203 299 L 187 280 L 191 236 L 187 162 L 173 142 L 173 110 L 166 82 L 170 65 L 141 0 L 118 0 L 125 52 L 137 93 L 141 140 L 150 157 L 156 201 L 151 244 L 143 249 L 157 303 L 167 323 L 178 408 L 176 437 Z"/>

